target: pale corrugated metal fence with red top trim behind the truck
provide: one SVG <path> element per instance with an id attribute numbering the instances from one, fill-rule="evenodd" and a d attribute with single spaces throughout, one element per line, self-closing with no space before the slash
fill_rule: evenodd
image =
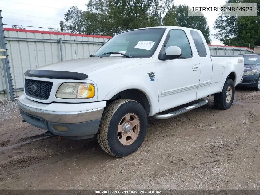
<path id="1" fill-rule="evenodd" d="M 88 57 L 111 37 L 5 28 L 15 95 L 23 90 L 23 73 L 62 60 Z M 2 45 L 0 44 L 0 47 Z M 62 48 L 62 49 L 61 49 Z M 209 45 L 211 55 L 253 53 L 246 47 Z M 5 67 L 0 60 L 0 98 L 6 97 Z M 9 89 L 7 89 L 8 91 Z"/>

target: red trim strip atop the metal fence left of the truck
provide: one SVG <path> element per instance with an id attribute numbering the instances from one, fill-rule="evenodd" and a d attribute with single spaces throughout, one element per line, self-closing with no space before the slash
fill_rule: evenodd
<path id="1" fill-rule="evenodd" d="M 42 34 L 49 34 L 49 35 L 67 35 L 67 36 L 95 37 L 95 38 L 107 38 L 107 39 L 112 38 L 110 36 L 101 36 L 101 35 L 85 35 L 85 34 L 49 32 L 49 31 L 41 31 L 41 30 L 27 30 L 27 29 L 16 29 L 16 28 L 4 28 L 4 30 L 14 31 L 14 32 L 42 33 Z"/>

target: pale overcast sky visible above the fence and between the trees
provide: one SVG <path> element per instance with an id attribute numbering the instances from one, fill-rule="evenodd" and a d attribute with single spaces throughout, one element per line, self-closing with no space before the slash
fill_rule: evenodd
<path id="1" fill-rule="evenodd" d="M 86 10 L 85 3 L 88 0 L 0 0 L 3 23 L 11 25 L 38 26 L 59 28 L 59 21 L 64 19 L 64 14 L 71 6 L 78 6 L 81 10 Z M 175 5 L 185 4 L 190 7 L 195 6 L 221 6 L 225 0 L 208 1 L 205 0 L 174 0 Z M 213 24 L 218 17 L 218 13 L 204 13 L 210 26 L 210 33 L 215 33 Z M 11 27 L 11 26 L 5 26 Z M 31 30 L 48 30 L 40 28 L 25 27 Z M 219 43 L 211 36 L 212 44 Z"/>

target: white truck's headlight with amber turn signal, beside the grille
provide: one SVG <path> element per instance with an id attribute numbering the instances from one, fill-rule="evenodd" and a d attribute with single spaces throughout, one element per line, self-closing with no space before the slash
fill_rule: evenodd
<path id="1" fill-rule="evenodd" d="M 81 99 L 95 96 L 94 85 L 90 83 L 62 83 L 56 93 L 57 98 Z"/>

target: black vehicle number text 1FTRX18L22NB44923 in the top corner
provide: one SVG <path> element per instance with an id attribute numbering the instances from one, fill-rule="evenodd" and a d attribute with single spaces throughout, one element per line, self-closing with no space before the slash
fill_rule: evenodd
<path id="1" fill-rule="evenodd" d="M 253 7 L 192 7 L 192 11 L 218 11 L 218 12 L 234 12 L 234 11 L 253 11 Z"/>

